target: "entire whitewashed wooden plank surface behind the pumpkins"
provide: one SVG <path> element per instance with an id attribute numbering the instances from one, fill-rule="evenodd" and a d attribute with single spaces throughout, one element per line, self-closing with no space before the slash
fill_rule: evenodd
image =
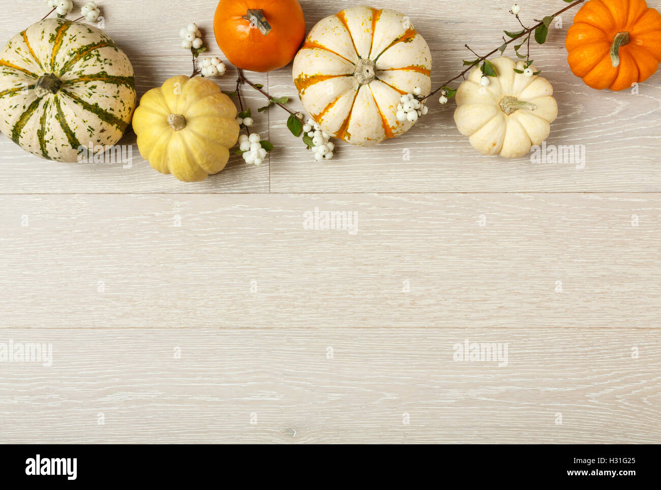
<path id="1" fill-rule="evenodd" d="M 3 42 L 46 13 L 32 3 L 7 3 Z M 511 3 L 371 5 L 406 7 L 436 87 L 463 44 L 516 28 Z M 530 23 L 566 5 L 519 3 Z M 214 1 L 98 4 L 139 95 L 190 72 L 188 22 L 222 55 Z M 310 28 L 352 4 L 301 5 Z M 585 145 L 585 168 L 483 157 L 435 101 L 407 135 L 323 163 L 272 109 L 262 166 L 233 156 L 196 184 L 135 145 L 131 168 L 60 164 L 0 135 L 0 347 L 53 347 L 50 367 L 0 362 L 0 442 L 659 442 L 661 75 L 585 87 L 574 12 L 533 58 L 559 102 L 547 143 Z M 248 75 L 300 108 L 291 66 Z M 315 209 L 357 232 L 306 229 Z M 453 361 L 465 339 L 507 344 L 508 365 Z"/>

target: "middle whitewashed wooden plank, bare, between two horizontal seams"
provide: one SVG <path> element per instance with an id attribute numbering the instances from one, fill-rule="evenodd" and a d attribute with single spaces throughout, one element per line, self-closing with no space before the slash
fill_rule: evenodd
<path id="1" fill-rule="evenodd" d="M 660 226 L 656 194 L 2 196 L 0 324 L 658 328 Z"/>

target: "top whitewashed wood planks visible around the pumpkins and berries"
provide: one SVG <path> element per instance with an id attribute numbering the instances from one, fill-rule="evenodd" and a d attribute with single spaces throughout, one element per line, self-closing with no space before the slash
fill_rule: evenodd
<path id="1" fill-rule="evenodd" d="M 8 40 L 17 26 L 40 18 L 46 7 L 38 0 L 35 8 L 23 2 L 9 2 L 0 19 L 0 38 Z M 346 1 L 301 1 L 310 28 L 326 15 L 355 5 Z M 502 28 L 518 24 L 508 9 L 511 0 L 412 0 L 406 5 L 373 1 L 375 7 L 405 10 L 430 44 L 434 57 L 434 87 L 462 69 L 461 59 L 469 57 L 463 44 L 478 52 L 498 45 Z M 650 6 L 661 8 L 659 0 Z M 210 54 L 221 54 L 215 44 L 212 19 L 215 1 L 189 0 L 173 11 L 165 0 L 102 0 L 108 34 L 128 53 L 136 69 L 139 94 L 161 85 L 167 77 L 189 73 L 190 59 L 178 47 L 178 30 L 196 21 L 210 45 Z M 522 4 L 524 20 L 539 18 L 565 7 L 561 0 L 534 0 Z M 553 27 L 544 46 L 533 43 L 535 65 L 555 87 L 559 118 L 552 125 L 547 143 L 586 145 L 585 168 L 572 163 L 533 164 L 529 157 L 504 160 L 484 157 L 459 134 L 453 119 L 454 104 L 430 103 L 430 114 L 405 136 L 386 141 L 376 149 L 338 145 L 336 158 L 317 163 L 301 141 L 286 129 L 286 113 L 271 110 L 256 117 L 256 129 L 266 131 L 270 118 L 270 141 L 276 149 L 261 168 L 243 164 L 237 155 L 221 174 L 198 184 L 181 184 L 153 171 L 137 155 L 130 169 L 111 165 L 70 165 L 47 162 L 20 152 L 0 135 L 0 193 L 147 193 L 147 192 L 658 192 L 661 190 L 661 73 L 639 87 L 639 94 L 598 91 L 583 85 L 566 63 L 564 34 L 576 9 L 563 15 L 563 27 Z M 555 25 L 555 24 L 554 24 Z M 4 42 L 4 41 L 3 41 Z M 291 79 L 291 65 L 267 77 L 249 76 L 264 83 L 273 94 L 293 98 L 290 106 L 300 108 Z M 221 88 L 231 90 L 234 71 L 218 79 Z M 244 91 L 250 94 L 251 90 Z M 263 101 L 252 96 L 253 111 Z M 261 117 L 260 117 L 261 116 Z M 122 143 L 134 143 L 129 133 Z M 403 150 L 410 159 L 403 160 Z M 269 180 L 270 178 L 270 180 Z"/>

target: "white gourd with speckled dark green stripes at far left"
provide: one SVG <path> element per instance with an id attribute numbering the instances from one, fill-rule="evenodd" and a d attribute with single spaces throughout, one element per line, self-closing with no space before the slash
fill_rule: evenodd
<path id="1" fill-rule="evenodd" d="M 41 20 L 0 52 L 0 131 L 33 155 L 75 162 L 114 145 L 135 108 L 131 62 L 94 26 Z"/>

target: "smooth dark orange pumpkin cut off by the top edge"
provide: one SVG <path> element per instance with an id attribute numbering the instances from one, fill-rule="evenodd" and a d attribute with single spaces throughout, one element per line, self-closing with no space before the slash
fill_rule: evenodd
<path id="1" fill-rule="evenodd" d="M 271 71 L 292 61 L 305 37 L 298 0 L 220 0 L 214 34 L 230 63 Z"/>

